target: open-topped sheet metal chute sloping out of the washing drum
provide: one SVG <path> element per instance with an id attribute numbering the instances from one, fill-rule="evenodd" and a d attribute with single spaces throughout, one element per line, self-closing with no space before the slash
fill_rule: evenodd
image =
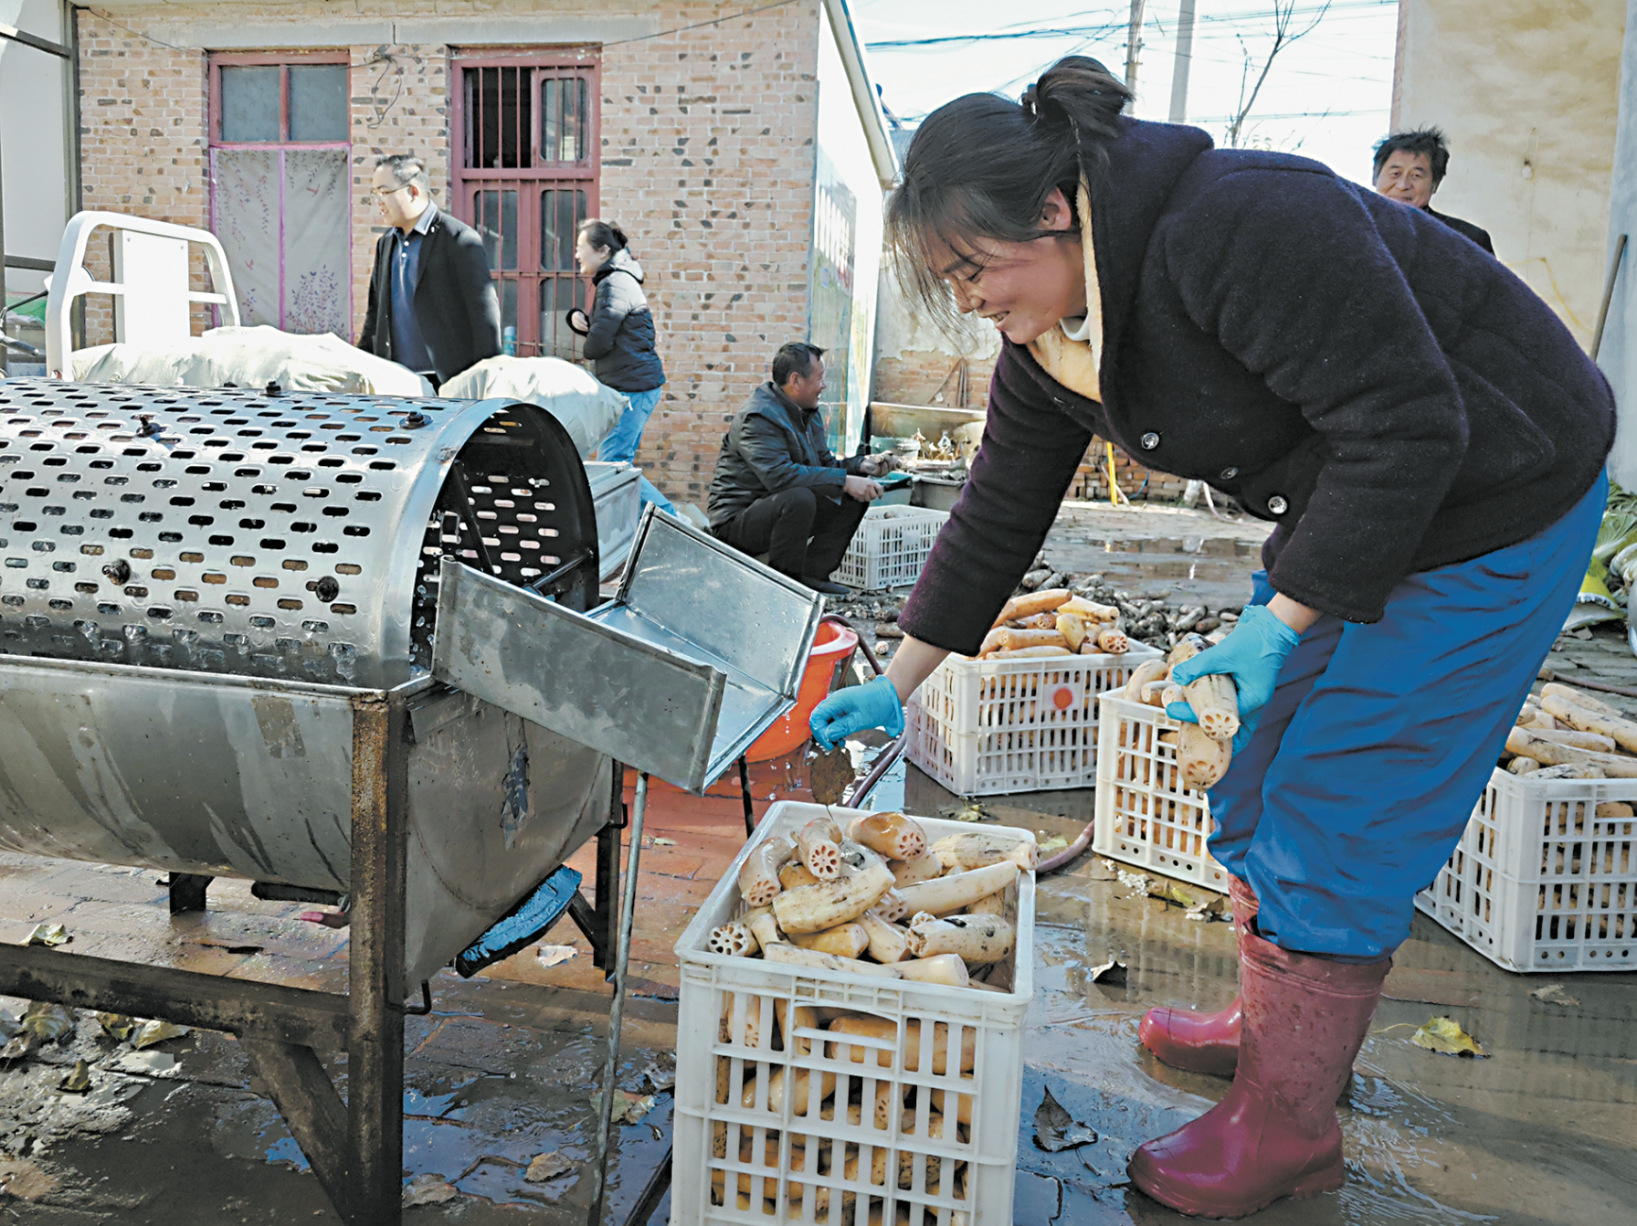
<path id="1" fill-rule="evenodd" d="M 702 792 L 796 705 L 822 602 L 647 511 L 619 596 L 578 614 L 442 560 L 432 673 Z"/>

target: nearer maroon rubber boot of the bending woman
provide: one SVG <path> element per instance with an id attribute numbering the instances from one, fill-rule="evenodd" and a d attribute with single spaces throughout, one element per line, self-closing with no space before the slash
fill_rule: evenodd
<path id="1" fill-rule="evenodd" d="M 1228 1095 L 1131 1157 L 1131 1182 L 1179 1213 L 1242 1218 L 1280 1197 L 1334 1192 L 1336 1095 L 1352 1075 L 1393 959 L 1333 962 L 1239 935 L 1244 1030 Z"/>

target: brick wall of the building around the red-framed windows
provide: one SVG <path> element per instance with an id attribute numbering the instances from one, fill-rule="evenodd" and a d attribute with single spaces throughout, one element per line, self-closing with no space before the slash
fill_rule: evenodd
<path id="1" fill-rule="evenodd" d="M 601 214 L 617 221 L 648 275 L 666 368 L 638 455 L 671 498 L 704 503 L 727 421 L 766 378 L 773 350 L 807 334 L 807 252 L 817 129 L 818 0 L 740 16 L 715 0 L 355 0 L 264 3 L 257 21 L 378 25 L 413 15 L 648 18 L 658 36 L 602 47 Z M 121 8 L 147 29 L 244 21 L 236 3 Z M 727 18 L 727 20 L 722 20 Z M 79 10 L 85 206 L 206 226 L 208 57 L 172 51 Z M 714 23 L 714 25 L 706 25 Z M 683 29 L 694 26 L 692 29 Z M 676 31 L 676 33 L 663 33 Z M 185 39 L 178 39 L 185 41 Z M 301 43 L 270 31 L 267 47 Z M 525 44 L 519 44 L 525 46 Z M 377 236 L 373 157 L 417 152 L 444 201 L 450 182 L 447 46 L 350 46 L 352 282 L 362 324 Z M 98 273 L 98 267 L 92 267 Z M 95 301 L 95 300 L 93 300 Z M 111 339 L 95 311 L 90 344 Z"/>

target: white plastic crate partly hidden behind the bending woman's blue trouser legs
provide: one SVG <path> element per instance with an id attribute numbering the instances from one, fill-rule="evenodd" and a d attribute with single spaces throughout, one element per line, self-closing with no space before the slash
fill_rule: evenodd
<path id="1" fill-rule="evenodd" d="M 1159 707 L 1128 702 L 1118 691 L 1098 699 L 1097 812 L 1092 850 L 1213 890 L 1228 889 L 1228 869 L 1205 850 L 1211 804 L 1182 782 L 1177 750 L 1161 735 L 1182 728 Z"/>

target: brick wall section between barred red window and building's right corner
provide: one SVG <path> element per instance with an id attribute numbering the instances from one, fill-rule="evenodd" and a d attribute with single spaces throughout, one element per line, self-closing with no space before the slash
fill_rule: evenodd
<path id="1" fill-rule="evenodd" d="M 638 462 L 673 499 L 704 506 L 728 419 L 807 336 L 818 23 L 799 0 L 602 52 L 602 216 L 642 260 L 666 373 Z"/>

